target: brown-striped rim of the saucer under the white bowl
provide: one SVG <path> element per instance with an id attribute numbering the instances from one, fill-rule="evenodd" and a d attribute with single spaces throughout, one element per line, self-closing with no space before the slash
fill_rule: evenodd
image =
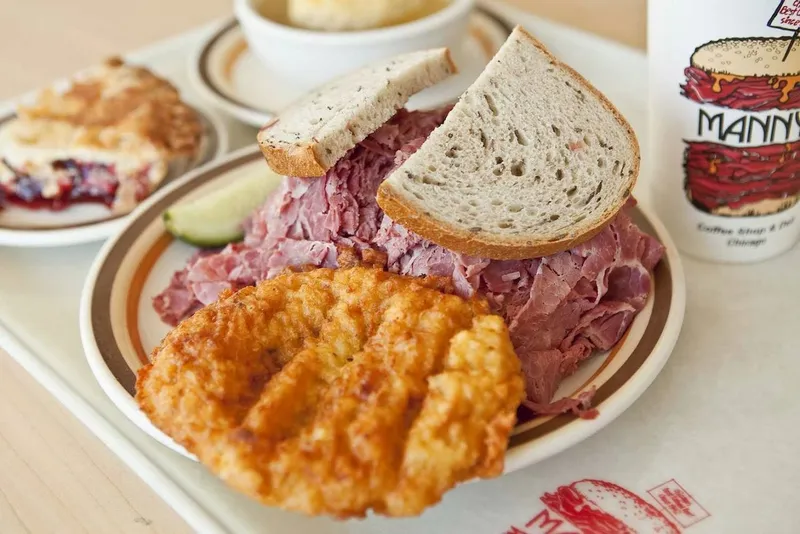
<path id="1" fill-rule="evenodd" d="M 506 32 L 508 35 L 513 31 L 513 26 L 508 21 L 482 6 L 475 6 L 470 16 L 482 17 L 496 25 L 498 29 L 502 29 L 502 31 Z M 212 79 L 211 71 L 213 69 L 208 65 L 208 58 L 212 50 L 217 46 L 217 43 L 231 31 L 237 31 L 240 27 L 241 24 L 239 21 L 235 17 L 231 17 L 222 22 L 213 33 L 203 39 L 189 59 L 189 79 L 197 92 L 200 93 L 209 104 L 216 106 L 225 113 L 228 113 L 250 126 L 260 128 L 272 120 L 276 112 L 258 109 L 246 102 L 242 102 L 236 96 L 228 94 Z"/>

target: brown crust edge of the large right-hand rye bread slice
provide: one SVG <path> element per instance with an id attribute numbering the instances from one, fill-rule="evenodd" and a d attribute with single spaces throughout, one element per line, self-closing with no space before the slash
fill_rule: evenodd
<path id="1" fill-rule="evenodd" d="M 397 194 L 394 188 L 387 182 L 384 182 L 378 188 L 378 205 L 383 209 L 386 215 L 407 230 L 411 230 L 425 239 L 452 251 L 493 260 L 521 260 L 549 256 L 569 250 L 588 241 L 610 224 L 625 206 L 636 184 L 636 180 L 639 176 L 639 168 L 641 166 L 641 151 L 636 134 L 628 121 L 625 120 L 611 101 L 596 87 L 591 85 L 586 78 L 576 72 L 575 69 L 559 61 L 547 50 L 544 44 L 528 33 L 527 30 L 521 26 L 517 26 L 516 30 L 526 39 L 529 39 L 531 44 L 538 48 L 550 60 L 552 65 L 561 68 L 564 72 L 573 77 L 577 83 L 583 85 L 586 90 L 593 93 L 603 106 L 620 122 L 628 134 L 628 139 L 633 149 L 633 173 L 631 174 L 630 181 L 625 191 L 620 195 L 619 202 L 606 211 L 600 222 L 587 228 L 578 235 L 568 236 L 556 241 L 533 241 L 524 238 L 520 240 L 499 240 L 497 236 L 482 237 L 478 233 L 472 234 L 458 228 L 453 228 L 448 224 L 434 219 L 430 215 L 426 215 L 414 206 L 411 201 Z"/>

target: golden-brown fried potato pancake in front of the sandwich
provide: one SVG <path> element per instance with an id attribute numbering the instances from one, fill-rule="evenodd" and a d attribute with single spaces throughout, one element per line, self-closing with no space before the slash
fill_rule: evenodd
<path id="1" fill-rule="evenodd" d="M 136 398 L 265 504 L 417 515 L 502 473 L 524 396 L 503 320 L 447 285 L 353 267 L 223 295 L 153 351 Z"/>

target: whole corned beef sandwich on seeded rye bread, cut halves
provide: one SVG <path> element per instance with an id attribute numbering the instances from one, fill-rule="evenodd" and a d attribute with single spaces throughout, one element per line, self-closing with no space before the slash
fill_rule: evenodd
<path id="1" fill-rule="evenodd" d="M 663 253 L 626 213 L 635 138 L 602 95 L 521 29 L 452 107 L 404 109 L 410 94 L 454 70 L 446 51 L 412 56 L 338 80 L 265 126 L 259 142 L 270 166 L 304 177 L 284 180 L 248 220 L 243 242 L 195 255 L 154 306 L 175 324 L 223 289 L 289 266 L 336 267 L 337 246 L 375 250 L 388 270 L 450 276 L 462 296 L 489 301 L 509 325 L 528 409 L 591 416 L 589 395 L 553 402 L 558 384 L 621 339 Z M 518 83 L 530 87 L 514 100 Z M 440 151 L 442 142 L 458 148 Z M 398 179 L 409 174 L 413 185 Z M 400 217 L 387 214 L 386 187 Z M 450 206 L 463 213 L 437 213 Z M 481 226 L 466 246 L 453 238 L 459 224 Z"/>

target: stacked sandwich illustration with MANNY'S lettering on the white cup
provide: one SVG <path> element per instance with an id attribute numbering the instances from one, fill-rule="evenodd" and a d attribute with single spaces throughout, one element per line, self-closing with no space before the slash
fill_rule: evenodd
<path id="1" fill-rule="evenodd" d="M 697 209 L 755 217 L 797 204 L 798 49 L 800 41 L 788 36 L 720 39 L 695 49 L 681 94 L 704 105 L 700 139 L 685 140 L 684 188 Z"/>

